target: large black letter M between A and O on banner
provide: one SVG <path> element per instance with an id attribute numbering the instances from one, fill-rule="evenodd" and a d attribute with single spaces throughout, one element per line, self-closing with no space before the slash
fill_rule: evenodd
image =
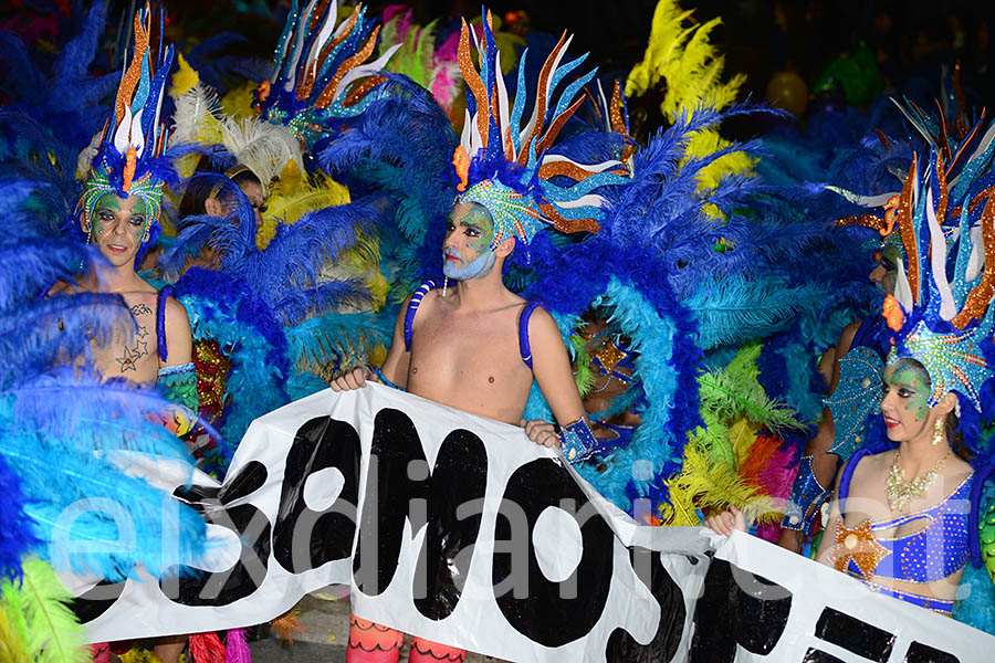
<path id="1" fill-rule="evenodd" d="M 383 593 L 397 570 L 405 520 L 410 522 L 412 535 L 428 525 L 419 569 L 427 570 L 428 577 L 422 578 L 429 585 L 415 588 L 416 607 L 431 619 L 443 619 L 455 608 L 462 588 L 454 585 L 451 571 L 440 567 L 444 557 L 472 550 L 476 543 L 479 520 L 458 523 L 455 509 L 483 496 L 486 450 L 469 431 L 454 431 L 439 451 L 437 472 L 428 471 L 411 419 L 392 408 L 377 412 L 353 577 L 364 593 Z M 472 481 L 474 476 L 482 480 Z M 469 567 L 469 559 L 461 564 Z"/>

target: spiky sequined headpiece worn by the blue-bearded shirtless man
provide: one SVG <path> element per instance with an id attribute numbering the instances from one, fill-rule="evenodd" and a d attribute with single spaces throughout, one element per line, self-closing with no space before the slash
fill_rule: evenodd
<path id="1" fill-rule="evenodd" d="M 522 127 L 525 98 L 525 59 L 519 62 L 519 84 L 514 104 L 509 106 L 504 78 L 490 13 L 483 40 L 474 45 L 480 54 L 480 72 L 473 66 L 471 31 L 463 21 L 460 33 L 460 71 L 467 82 L 467 118 L 453 166 L 460 178 L 458 202 L 482 204 L 494 221 L 496 248 L 510 236 L 528 244 L 547 224 L 563 232 L 597 232 L 605 199 L 593 193 L 606 185 L 628 180 L 628 171 L 617 160 L 590 166 L 577 164 L 562 154 L 552 154 L 563 126 L 584 98 L 574 101 L 597 70 L 573 81 L 557 96 L 556 86 L 577 69 L 587 55 L 561 65 L 570 40 L 566 33 L 549 57 L 534 91 L 532 114 Z M 554 183 L 555 182 L 555 183 Z"/>

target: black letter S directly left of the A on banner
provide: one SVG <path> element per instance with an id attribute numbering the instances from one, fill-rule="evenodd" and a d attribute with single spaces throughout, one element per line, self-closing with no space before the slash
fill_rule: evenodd
<path id="1" fill-rule="evenodd" d="M 193 485 L 177 488 L 174 494 L 187 502 L 205 519 L 232 530 L 241 549 L 239 559 L 223 571 L 203 571 L 190 567 L 172 569 L 179 578 L 159 581 L 164 593 L 182 606 L 227 606 L 253 593 L 262 585 L 270 558 L 270 522 L 266 515 L 249 503 L 227 506 L 248 497 L 266 482 L 266 466 L 251 461 L 238 476 L 220 488 Z M 167 585 L 176 583 L 170 591 Z"/>

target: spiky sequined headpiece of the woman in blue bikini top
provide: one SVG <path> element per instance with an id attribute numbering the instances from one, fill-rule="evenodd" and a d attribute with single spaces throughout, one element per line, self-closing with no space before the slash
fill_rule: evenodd
<path id="1" fill-rule="evenodd" d="M 985 162 L 989 157 L 983 157 Z M 921 187 L 917 161 L 896 214 L 908 265 L 899 269 L 894 296 L 884 303 L 888 326 L 896 332 L 889 364 L 909 357 L 925 368 L 932 382 L 930 406 L 955 391 L 981 412 L 982 387 L 995 377 L 995 309 L 989 306 L 995 295 L 995 196 L 985 182 L 957 182 L 950 190 L 942 156 L 931 160 Z M 955 202 L 960 204 L 949 209 Z M 947 214 L 960 220 L 950 238 L 939 222 Z"/>

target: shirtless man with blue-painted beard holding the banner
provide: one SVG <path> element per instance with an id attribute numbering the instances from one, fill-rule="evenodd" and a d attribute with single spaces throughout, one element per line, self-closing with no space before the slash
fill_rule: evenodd
<path id="1" fill-rule="evenodd" d="M 534 442 L 559 445 L 561 434 L 553 424 L 522 419 L 534 378 L 563 424 L 565 455 L 580 460 L 594 440 L 569 356 L 553 317 L 504 287 L 501 273 L 516 239 L 509 236 L 494 246 L 495 230 L 485 207 L 457 202 L 442 248 L 443 273 L 455 284 L 441 290 L 422 286 L 408 297 L 380 372 L 385 382 L 400 389 L 523 425 Z M 332 388 L 359 389 L 371 377 L 358 368 L 336 379 Z M 402 642 L 404 634 L 354 617 L 348 661 L 396 662 Z M 370 644 L 388 651 L 370 653 Z M 415 638 L 409 661 L 462 661 L 462 656 L 453 648 Z"/>

